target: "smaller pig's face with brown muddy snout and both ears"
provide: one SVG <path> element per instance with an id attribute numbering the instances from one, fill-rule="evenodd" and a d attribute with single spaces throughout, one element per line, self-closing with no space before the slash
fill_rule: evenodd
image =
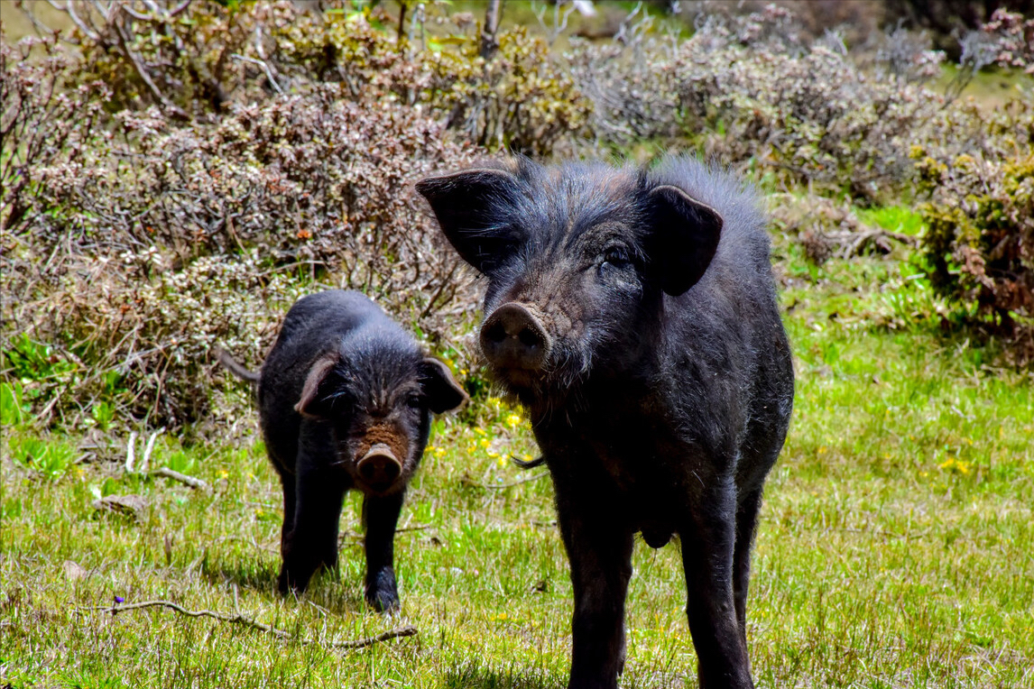
<path id="1" fill-rule="evenodd" d="M 310 369 L 296 409 L 331 424 L 335 465 L 357 488 L 387 495 L 403 490 L 417 470 L 431 413 L 455 409 L 465 400 L 466 394 L 437 359 L 370 367 L 332 352 Z"/>

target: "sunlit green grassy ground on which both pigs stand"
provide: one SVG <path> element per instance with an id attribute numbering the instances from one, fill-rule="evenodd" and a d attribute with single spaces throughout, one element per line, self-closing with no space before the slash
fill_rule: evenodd
<path id="1" fill-rule="evenodd" d="M 752 580 L 759 686 L 1034 687 L 1030 375 L 942 333 L 943 305 L 906 263 L 776 253 L 798 387 Z M 40 435 L 9 389 L 2 403 L 3 686 L 565 686 L 572 594 L 551 486 L 506 460 L 536 449 L 498 400 L 436 422 L 388 617 L 363 602 L 356 495 L 339 577 L 276 594 L 279 490 L 253 418 L 208 445 L 157 439 L 152 466 L 209 486 L 192 490 L 126 473 L 125 438 Z M 93 506 L 111 495 L 142 501 Z M 696 686 L 677 549 L 637 546 L 625 687 Z M 105 609 L 148 600 L 243 621 Z M 406 625 L 418 633 L 333 648 Z"/>

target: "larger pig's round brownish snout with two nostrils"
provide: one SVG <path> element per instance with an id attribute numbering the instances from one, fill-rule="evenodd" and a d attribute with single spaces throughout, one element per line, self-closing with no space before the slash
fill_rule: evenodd
<path id="1" fill-rule="evenodd" d="M 481 326 L 481 350 L 500 369 L 538 371 L 551 346 L 535 314 L 515 302 L 493 311 Z"/>

